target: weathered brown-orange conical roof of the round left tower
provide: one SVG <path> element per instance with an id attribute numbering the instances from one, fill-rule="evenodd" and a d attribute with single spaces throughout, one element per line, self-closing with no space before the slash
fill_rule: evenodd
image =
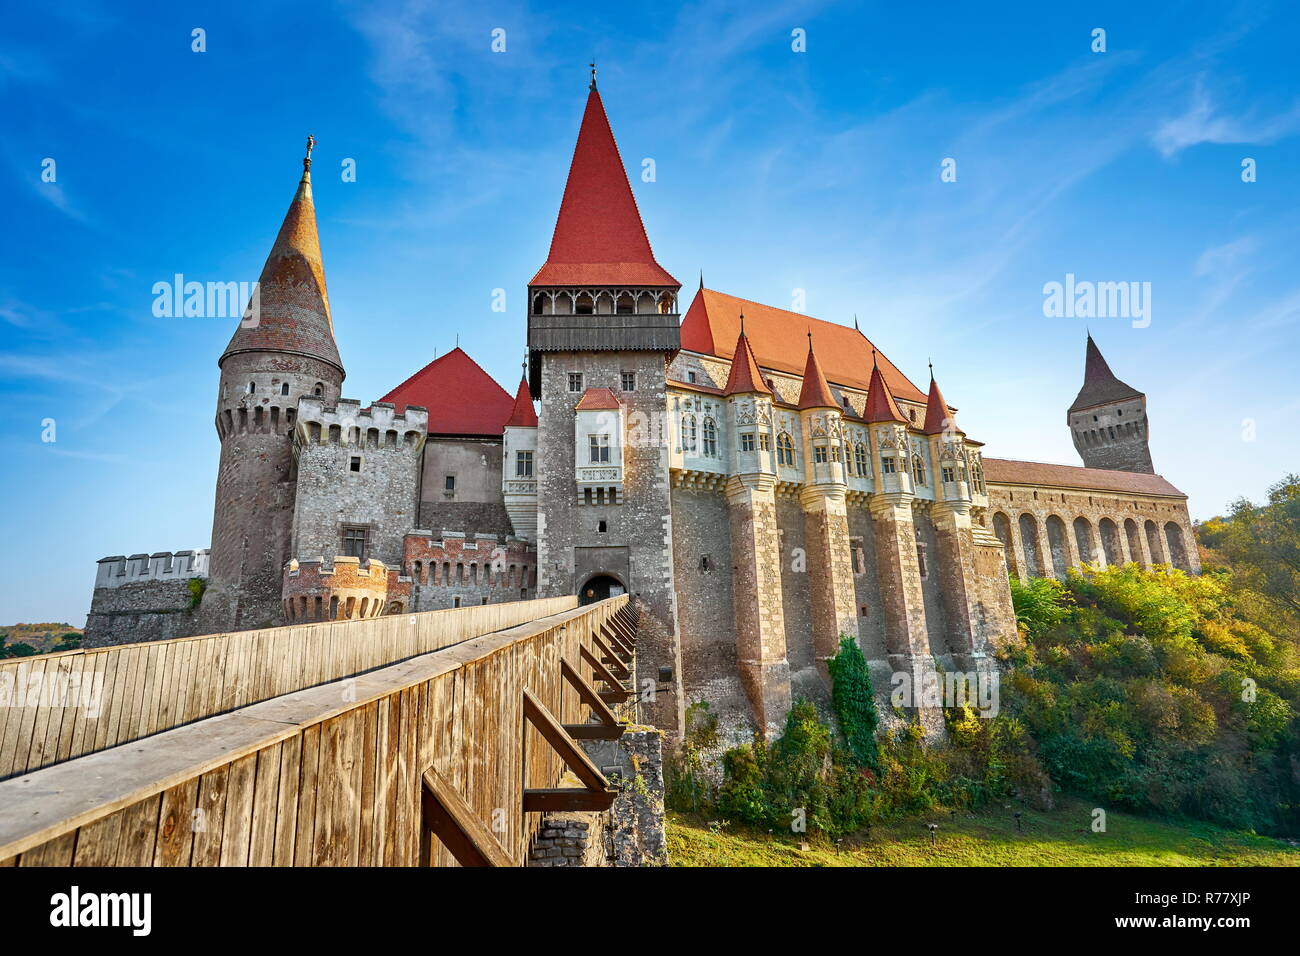
<path id="1" fill-rule="evenodd" d="M 329 311 L 316 207 L 312 203 L 315 146 L 316 139 L 308 137 L 303 178 L 298 181 L 298 191 L 261 269 L 257 313 L 246 312 L 218 365 L 235 352 L 290 352 L 320 359 L 343 372 L 334 343 L 334 320 Z"/>

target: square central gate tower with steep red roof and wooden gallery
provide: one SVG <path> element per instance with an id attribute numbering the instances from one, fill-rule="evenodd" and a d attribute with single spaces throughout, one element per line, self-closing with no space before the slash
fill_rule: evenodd
<path id="1" fill-rule="evenodd" d="M 528 284 L 538 593 L 640 596 L 638 689 L 655 688 L 645 715 L 667 730 L 684 713 L 664 421 L 680 287 L 655 261 L 593 70 L 550 252 Z"/>

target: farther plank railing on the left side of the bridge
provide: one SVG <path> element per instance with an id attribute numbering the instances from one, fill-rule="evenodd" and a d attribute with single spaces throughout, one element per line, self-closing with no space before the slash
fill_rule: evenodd
<path id="1" fill-rule="evenodd" d="M 550 597 L 0 661 L 0 780 L 576 605 Z"/>

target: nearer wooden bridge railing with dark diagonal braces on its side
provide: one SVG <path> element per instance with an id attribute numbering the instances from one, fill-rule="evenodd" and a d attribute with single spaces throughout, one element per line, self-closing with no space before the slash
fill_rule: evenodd
<path id="1" fill-rule="evenodd" d="M 614 799 L 573 731 L 621 734 L 636 623 L 620 596 L 0 782 L 0 866 L 523 865 L 540 810 Z"/>

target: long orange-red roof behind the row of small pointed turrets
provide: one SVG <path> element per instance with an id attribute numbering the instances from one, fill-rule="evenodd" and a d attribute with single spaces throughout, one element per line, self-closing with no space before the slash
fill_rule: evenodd
<path id="1" fill-rule="evenodd" d="M 745 334 L 754 349 L 759 367 L 788 375 L 802 375 L 809 329 L 822 349 L 822 371 L 828 381 L 866 390 L 871 381 L 871 351 L 875 346 L 857 329 L 800 312 L 764 306 L 750 299 L 727 295 L 712 289 L 699 289 L 681 320 L 681 347 L 703 355 L 731 359 L 731 345 L 740 333 L 740 313 L 745 313 Z M 926 395 L 879 355 L 880 369 L 898 398 L 924 402 Z"/>

